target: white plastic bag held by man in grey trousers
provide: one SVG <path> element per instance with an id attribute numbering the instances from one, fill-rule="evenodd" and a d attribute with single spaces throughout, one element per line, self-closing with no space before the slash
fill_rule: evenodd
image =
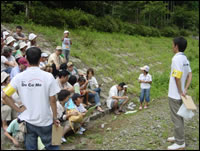
<path id="1" fill-rule="evenodd" d="M 181 107 L 179 108 L 177 114 L 181 117 L 183 117 L 185 120 L 189 120 L 194 116 L 194 113 L 192 112 L 192 110 L 188 110 L 184 103 L 181 105 Z"/>

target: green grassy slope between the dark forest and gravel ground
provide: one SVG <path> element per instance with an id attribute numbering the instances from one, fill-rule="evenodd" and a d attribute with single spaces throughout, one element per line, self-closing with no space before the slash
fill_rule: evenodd
<path id="1" fill-rule="evenodd" d="M 5 24 L 15 29 L 13 24 Z M 53 46 L 61 45 L 64 29 L 22 24 L 28 32 L 42 34 Z M 129 84 L 129 93 L 139 96 L 139 67 L 150 66 L 153 78 L 151 99 L 167 97 L 172 53 L 172 38 L 129 36 L 118 33 L 99 33 L 87 30 L 70 30 L 73 41 L 71 55 L 80 58 L 89 67 L 97 68 L 98 77 L 112 78 L 113 84 L 124 81 Z M 199 104 L 199 45 L 187 37 L 185 54 L 193 71 L 189 94 Z"/>

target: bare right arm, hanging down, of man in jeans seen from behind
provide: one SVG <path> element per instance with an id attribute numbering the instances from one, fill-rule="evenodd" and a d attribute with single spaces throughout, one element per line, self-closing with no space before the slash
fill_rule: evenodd
<path id="1" fill-rule="evenodd" d="M 60 121 L 57 119 L 57 104 L 56 104 L 56 96 L 50 96 L 50 106 L 53 112 L 53 123 L 56 126 L 59 126 Z"/>

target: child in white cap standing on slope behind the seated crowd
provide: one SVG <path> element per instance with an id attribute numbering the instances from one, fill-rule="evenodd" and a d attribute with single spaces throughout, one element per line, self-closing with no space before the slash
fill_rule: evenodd
<path id="1" fill-rule="evenodd" d="M 66 61 L 69 61 L 70 47 L 72 41 L 69 38 L 69 31 L 64 31 L 64 37 L 62 38 L 62 53 L 64 54 Z"/>

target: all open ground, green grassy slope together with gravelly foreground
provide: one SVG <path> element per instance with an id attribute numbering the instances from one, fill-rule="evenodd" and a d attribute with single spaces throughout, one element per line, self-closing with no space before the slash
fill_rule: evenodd
<path id="1" fill-rule="evenodd" d="M 15 30 L 14 24 L 3 24 Z M 42 51 L 53 52 L 61 45 L 65 29 L 22 24 L 25 34 L 34 32 Z M 139 67 L 150 66 L 153 78 L 150 108 L 130 115 L 106 115 L 92 122 L 83 136 L 73 135 L 61 149 L 166 149 L 165 140 L 172 134 L 167 91 L 172 53 L 172 39 L 166 37 L 141 37 L 125 34 L 108 34 L 88 30 L 70 30 L 73 45 L 70 60 L 86 71 L 95 69 L 99 83 L 104 83 L 102 95 L 116 83 L 128 83 L 128 95 L 138 104 L 140 87 Z M 199 149 L 199 41 L 186 37 L 185 54 L 190 60 L 193 80 L 188 91 L 198 110 L 192 121 L 187 121 L 187 149 Z M 105 102 L 105 99 L 102 101 Z M 102 129 L 101 125 L 105 124 Z M 108 129 L 109 128 L 109 129 Z M 103 148 L 102 148 L 103 146 Z"/>

